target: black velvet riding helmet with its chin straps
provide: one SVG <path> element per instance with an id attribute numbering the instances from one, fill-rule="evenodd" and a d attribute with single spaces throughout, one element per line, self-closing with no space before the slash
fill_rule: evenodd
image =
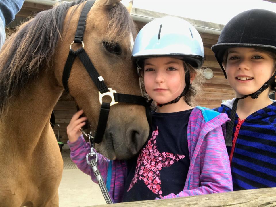
<path id="1" fill-rule="evenodd" d="M 254 47 L 276 53 L 276 13 L 264 9 L 252 9 L 238 14 L 225 25 L 218 38 L 218 43 L 212 46 L 212 51 L 215 53 L 225 78 L 227 76 L 222 66 L 223 56 L 225 51 L 231 47 Z M 226 129 L 226 146 L 232 146 L 238 101 L 248 96 L 253 99 L 258 98 L 269 86 L 275 90 L 275 76 L 276 71 L 258 91 L 235 99 L 229 117 L 231 121 L 227 124 Z"/>

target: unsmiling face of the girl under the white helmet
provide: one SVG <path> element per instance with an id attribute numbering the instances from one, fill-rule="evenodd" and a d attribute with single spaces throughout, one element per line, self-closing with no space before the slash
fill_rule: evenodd
<path id="1" fill-rule="evenodd" d="M 163 104 L 177 98 L 185 88 L 182 60 L 172 57 L 148 58 L 144 62 L 144 84 L 147 94 Z"/>

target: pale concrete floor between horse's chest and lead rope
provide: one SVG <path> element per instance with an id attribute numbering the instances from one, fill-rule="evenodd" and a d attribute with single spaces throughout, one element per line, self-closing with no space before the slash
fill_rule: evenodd
<path id="1" fill-rule="evenodd" d="M 70 150 L 62 148 L 64 169 L 58 189 L 60 207 L 77 207 L 106 204 L 99 185 L 89 175 L 80 171 L 70 160 Z"/>

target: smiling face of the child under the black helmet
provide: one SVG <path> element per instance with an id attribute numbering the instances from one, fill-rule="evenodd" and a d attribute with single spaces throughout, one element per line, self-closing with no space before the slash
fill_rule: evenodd
<path id="1" fill-rule="evenodd" d="M 274 59 L 265 52 L 247 47 L 228 49 L 226 75 L 237 97 L 259 90 L 274 70 Z"/>

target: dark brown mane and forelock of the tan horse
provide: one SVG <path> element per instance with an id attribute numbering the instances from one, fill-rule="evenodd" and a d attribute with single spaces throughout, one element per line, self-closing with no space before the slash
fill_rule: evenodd
<path id="1" fill-rule="evenodd" d="M 10 98 L 38 77 L 43 64 L 51 66 L 66 13 L 69 7 L 83 1 L 63 3 L 38 13 L 4 44 L 0 53 L 0 116 Z M 110 9 L 108 19 L 108 36 L 123 38 L 130 32 L 136 36 L 135 24 L 122 4 Z"/>

